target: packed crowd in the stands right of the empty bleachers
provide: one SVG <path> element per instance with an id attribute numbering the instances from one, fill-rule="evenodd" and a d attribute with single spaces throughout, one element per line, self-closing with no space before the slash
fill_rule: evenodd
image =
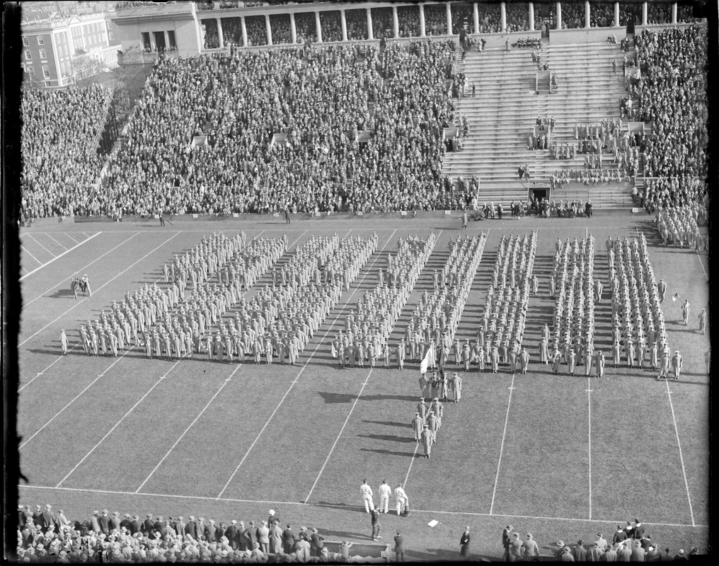
<path id="1" fill-rule="evenodd" d="M 638 114 L 654 124 L 644 170 L 660 177 L 645 200 L 654 206 L 687 204 L 702 196 L 708 172 L 707 29 L 644 29 L 638 39 Z"/>

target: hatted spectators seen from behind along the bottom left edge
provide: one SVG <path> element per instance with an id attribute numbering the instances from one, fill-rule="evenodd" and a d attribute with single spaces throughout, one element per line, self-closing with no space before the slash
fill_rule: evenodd
<path id="1" fill-rule="evenodd" d="M 401 487 L 400 487 L 401 490 Z M 403 492 L 402 492 L 403 493 Z M 398 496 L 395 490 L 395 496 Z M 399 497 L 398 499 L 401 499 Z M 350 551 L 351 542 L 325 542 L 319 529 L 282 521 L 274 509 L 267 519 L 247 522 L 197 518 L 193 515 L 153 516 L 107 509 L 89 519 L 68 519 L 50 504 L 17 509 L 19 562 L 364 562 Z M 336 551 L 336 552 L 334 552 Z M 371 561 L 372 559 L 369 558 Z"/>

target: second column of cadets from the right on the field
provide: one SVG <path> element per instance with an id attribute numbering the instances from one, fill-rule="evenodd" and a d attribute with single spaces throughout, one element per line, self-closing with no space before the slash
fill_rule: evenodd
<path id="1" fill-rule="evenodd" d="M 585 364 L 585 375 L 590 375 L 592 363 L 598 376 L 603 368 L 602 352 L 594 359 L 594 303 L 600 301 L 602 286 L 593 279 L 595 241 L 591 235 L 574 244 L 557 239 L 554 267 L 549 283 L 550 296 L 555 297 L 553 332 L 544 326 L 541 332 L 540 362 L 551 362 L 554 373 L 559 362 L 567 364 L 574 375 L 577 363 Z M 598 281 L 598 280 L 597 280 Z M 551 339 L 551 354 L 547 342 Z M 561 351 L 560 351 L 561 348 Z"/>

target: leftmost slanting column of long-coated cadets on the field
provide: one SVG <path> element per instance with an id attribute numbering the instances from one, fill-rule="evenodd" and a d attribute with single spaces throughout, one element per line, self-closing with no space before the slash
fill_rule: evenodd
<path id="1" fill-rule="evenodd" d="M 99 352 L 102 352 L 104 355 L 116 356 L 118 350 L 122 351 L 126 344 L 129 345 L 131 339 L 135 345 L 144 344 L 148 355 L 151 355 L 153 345 L 159 353 L 159 336 L 155 339 L 155 344 L 152 344 L 149 329 L 159 320 L 168 321 L 170 311 L 175 309 L 180 301 L 185 300 L 185 289 L 189 280 L 193 283 L 193 289 L 208 280 L 242 247 L 244 238 L 244 232 L 236 234 L 232 239 L 224 234 L 213 234 L 209 240 L 203 236 L 201 242 L 181 259 L 175 256 L 171 267 L 172 286 L 162 291 L 157 283 L 152 286 L 146 283 L 144 288 L 134 291 L 132 295 L 127 291 L 119 305 L 113 301 L 109 314 L 103 310 L 99 320 L 87 321 L 87 324 L 81 325 L 80 341 L 86 355 L 99 355 Z M 166 265 L 163 267 L 163 275 L 165 283 L 169 283 L 169 270 Z M 138 332 L 143 335 L 142 342 L 138 339 Z M 175 337 L 179 338 L 179 335 L 176 334 Z M 170 352 L 173 345 L 176 345 L 174 339 L 170 338 L 169 333 L 162 338 L 165 350 Z M 186 348 L 188 335 L 184 338 L 185 342 L 180 345 Z"/>

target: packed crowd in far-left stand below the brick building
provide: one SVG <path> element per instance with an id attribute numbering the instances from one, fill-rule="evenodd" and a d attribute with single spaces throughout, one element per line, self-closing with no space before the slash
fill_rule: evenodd
<path id="1" fill-rule="evenodd" d="M 92 213 L 102 166 L 92 144 L 104 128 L 109 94 L 96 84 L 24 89 L 20 183 L 25 218 Z"/>

